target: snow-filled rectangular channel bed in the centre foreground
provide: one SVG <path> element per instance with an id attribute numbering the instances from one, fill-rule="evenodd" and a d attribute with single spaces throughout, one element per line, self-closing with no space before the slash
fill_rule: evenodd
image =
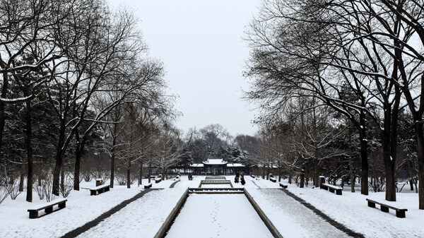
<path id="1" fill-rule="evenodd" d="M 244 194 L 190 194 L 165 237 L 273 235 Z"/>

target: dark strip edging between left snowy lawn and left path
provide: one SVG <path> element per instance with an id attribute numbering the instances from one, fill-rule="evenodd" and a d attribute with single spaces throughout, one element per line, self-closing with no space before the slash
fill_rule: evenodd
<path id="1" fill-rule="evenodd" d="M 119 210 L 121 210 L 122 208 L 127 206 L 129 203 L 136 201 L 137 199 L 144 196 L 144 194 L 147 194 L 148 192 L 154 191 L 154 190 L 160 190 L 160 189 L 145 189 L 145 190 L 141 191 L 139 194 L 136 194 L 136 196 L 129 198 L 129 199 L 123 201 L 122 203 L 119 203 L 117 206 L 114 206 L 114 208 L 112 208 L 112 209 L 108 210 L 107 212 L 103 213 L 102 215 L 98 216 L 98 218 L 95 218 L 94 220 L 87 222 L 85 225 L 78 227 L 78 228 L 71 230 L 70 232 L 64 234 L 61 238 L 78 237 L 78 235 L 83 234 L 84 232 L 95 227 L 96 225 L 98 225 L 100 222 L 102 222 L 106 218 L 109 218 L 111 215 L 113 215 L 114 213 L 117 213 Z"/>

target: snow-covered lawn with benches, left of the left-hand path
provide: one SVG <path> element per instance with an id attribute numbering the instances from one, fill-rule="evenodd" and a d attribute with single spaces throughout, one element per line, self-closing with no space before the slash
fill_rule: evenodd
<path id="1" fill-rule="evenodd" d="M 82 187 L 88 187 L 87 185 L 81 184 Z M 133 189 L 126 189 L 126 186 L 117 185 L 98 196 L 90 196 L 90 191 L 87 189 L 72 191 L 67 198 L 66 208 L 37 219 L 29 218 L 28 209 L 46 201 L 40 201 L 34 193 L 33 203 L 28 203 L 25 201 L 26 194 L 23 193 L 15 201 L 6 199 L 1 203 L 0 237 L 60 237 L 94 220 L 122 201 L 139 194 L 140 191 L 141 189 L 137 189 L 136 186 Z"/>

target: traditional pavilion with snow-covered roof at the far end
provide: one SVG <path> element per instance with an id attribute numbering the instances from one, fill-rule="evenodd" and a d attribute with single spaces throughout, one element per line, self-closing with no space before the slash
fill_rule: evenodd
<path id="1" fill-rule="evenodd" d="M 229 163 L 223 159 L 208 159 L 201 164 L 192 164 L 190 168 L 194 175 L 231 175 L 245 170 L 245 165 Z"/>

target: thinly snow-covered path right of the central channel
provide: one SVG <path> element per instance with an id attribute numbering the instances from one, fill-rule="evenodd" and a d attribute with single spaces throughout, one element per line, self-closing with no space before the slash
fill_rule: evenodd
<path id="1" fill-rule="evenodd" d="M 248 189 L 283 237 L 348 237 L 280 189 Z"/>

